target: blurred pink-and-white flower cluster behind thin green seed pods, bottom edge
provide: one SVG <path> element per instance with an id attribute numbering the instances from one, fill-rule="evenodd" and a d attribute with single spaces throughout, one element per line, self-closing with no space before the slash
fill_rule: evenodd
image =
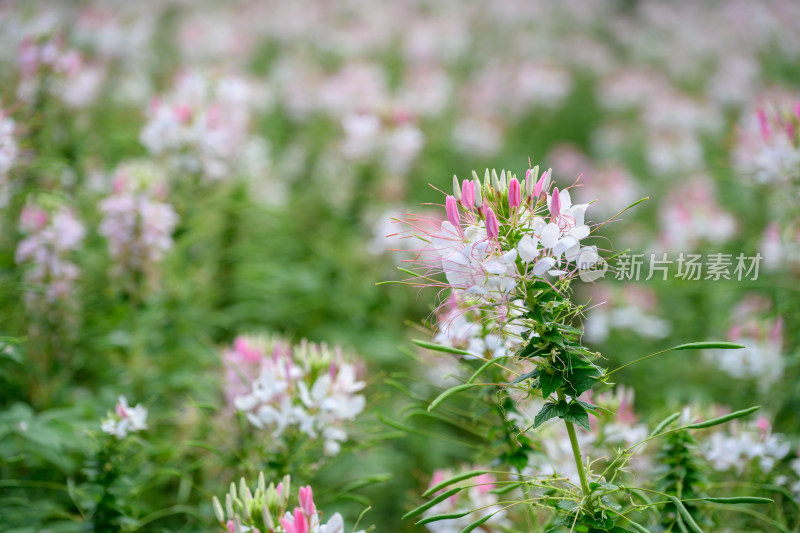
<path id="1" fill-rule="evenodd" d="M 483 469 L 479 467 L 467 467 L 457 472 L 451 470 L 436 470 L 433 473 L 430 486 L 433 487 L 458 474 L 474 470 Z M 422 516 L 431 517 L 436 515 L 466 514 L 450 520 L 430 522 L 425 524 L 425 527 L 428 528 L 428 531 L 433 531 L 434 533 L 458 533 L 476 520 L 491 516 L 487 522 L 481 524 L 480 530 L 487 532 L 506 531 L 506 528 L 511 526 L 511 521 L 508 519 L 508 513 L 499 503 L 499 496 L 492 492 L 492 489 L 497 487 L 496 481 L 497 479 L 492 474 L 481 474 L 463 482 L 449 485 L 448 488 L 459 486 L 469 488 L 461 490 L 457 494 L 437 503 L 425 511 Z M 440 492 L 444 492 L 444 490 L 445 489 L 442 489 Z M 438 496 L 439 492 L 435 493 L 435 495 Z M 471 509 L 474 510 L 469 512 Z"/>

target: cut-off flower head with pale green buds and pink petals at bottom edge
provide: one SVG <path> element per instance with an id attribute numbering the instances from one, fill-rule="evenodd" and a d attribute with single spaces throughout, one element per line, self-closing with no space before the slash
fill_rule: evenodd
<path id="1" fill-rule="evenodd" d="M 226 533 L 344 533 L 344 520 L 339 513 L 321 523 L 311 487 L 300 487 L 300 505 L 291 512 L 290 493 L 290 476 L 285 476 L 277 486 L 274 483 L 267 486 L 261 472 L 253 491 L 244 478 L 239 481 L 238 490 L 231 483 L 224 507 L 214 496 L 214 514 Z"/>

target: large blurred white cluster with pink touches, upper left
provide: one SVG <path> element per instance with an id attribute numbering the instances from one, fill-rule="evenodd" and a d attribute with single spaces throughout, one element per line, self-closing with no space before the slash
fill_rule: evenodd
<path id="1" fill-rule="evenodd" d="M 243 78 L 186 72 L 170 93 L 153 99 L 140 140 L 177 169 L 221 179 L 266 158 L 268 147 L 251 134 L 252 115 L 264 100 Z"/>

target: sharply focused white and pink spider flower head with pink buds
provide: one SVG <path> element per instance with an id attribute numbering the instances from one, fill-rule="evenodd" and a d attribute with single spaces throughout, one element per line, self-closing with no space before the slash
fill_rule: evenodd
<path id="1" fill-rule="evenodd" d="M 568 189 L 551 190 L 551 173 L 539 177 L 536 167 L 520 182 L 487 169 L 483 183 L 473 172 L 474 179 L 461 184 L 454 176 L 446 221 L 438 228 L 423 219 L 406 221 L 429 243 L 412 261 L 422 273 L 411 281 L 495 306 L 505 322 L 529 296 L 529 283 L 566 282 L 579 273 L 591 279 L 585 271 L 600 258 L 596 246 L 581 244 L 591 233 L 584 221 L 589 204 L 573 205 Z M 431 278 L 438 272 L 446 283 Z"/>

